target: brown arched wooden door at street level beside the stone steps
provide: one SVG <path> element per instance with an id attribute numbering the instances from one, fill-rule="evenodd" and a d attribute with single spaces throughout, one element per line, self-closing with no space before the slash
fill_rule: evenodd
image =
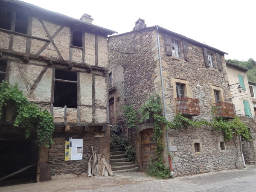
<path id="1" fill-rule="evenodd" d="M 154 155 L 156 141 L 152 139 L 153 129 L 146 129 L 141 132 L 141 141 L 142 141 L 142 163 L 143 163 L 143 171 L 146 172 L 148 161 L 150 156 Z"/>

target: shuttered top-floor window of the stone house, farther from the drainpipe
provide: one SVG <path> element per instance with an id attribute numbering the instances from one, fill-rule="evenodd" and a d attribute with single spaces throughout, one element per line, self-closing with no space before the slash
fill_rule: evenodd
<path id="1" fill-rule="evenodd" d="M 203 47 L 205 66 L 212 69 L 222 70 L 221 55 Z"/>

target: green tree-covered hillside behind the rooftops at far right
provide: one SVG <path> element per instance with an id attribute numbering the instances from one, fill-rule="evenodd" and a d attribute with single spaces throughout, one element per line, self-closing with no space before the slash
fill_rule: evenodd
<path id="1" fill-rule="evenodd" d="M 227 61 L 248 68 L 248 81 L 256 82 L 256 61 L 252 58 L 249 58 L 247 61 L 238 61 L 237 59 L 227 59 Z"/>

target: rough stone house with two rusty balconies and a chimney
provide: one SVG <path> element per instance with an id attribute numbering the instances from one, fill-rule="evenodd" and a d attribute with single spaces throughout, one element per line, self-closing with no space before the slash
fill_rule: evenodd
<path id="1" fill-rule="evenodd" d="M 126 130 L 120 111 L 123 105 L 139 108 L 157 93 L 169 121 L 176 113 L 208 121 L 214 116 L 235 116 L 226 52 L 160 26 L 146 27 L 142 19 L 133 31 L 111 36 L 108 49 L 111 123 L 122 125 L 127 137 L 134 139 L 140 170 L 145 171 L 154 154 L 153 125 Z M 163 161 L 169 167 L 169 150 L 176 176 L 242 166 L 239 140 L 225 142 L 224 134 L 210 127 L 164 132 L 162 140 L 168 149 L 163 151 Z"/>

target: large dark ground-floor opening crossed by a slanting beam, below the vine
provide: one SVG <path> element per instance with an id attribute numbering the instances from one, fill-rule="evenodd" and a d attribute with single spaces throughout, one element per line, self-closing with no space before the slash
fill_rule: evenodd
<path id="1" fill-rule="evenodd" d="M 0 178 L 38 161 L 37 140 L 0 140 Z M 0 186 L 35 183 L 37 166 L 0 181 Z"/>

